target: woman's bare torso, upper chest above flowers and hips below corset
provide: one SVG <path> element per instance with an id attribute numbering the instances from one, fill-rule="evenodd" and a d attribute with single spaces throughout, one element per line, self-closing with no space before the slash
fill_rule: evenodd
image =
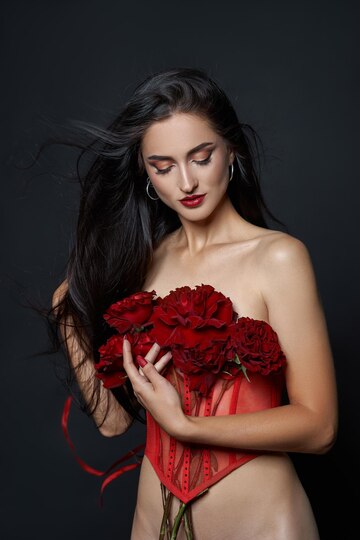
<path id="1" fill-rule="evenodd" d="M 175 233 L 156 251 L 144 290 L 164 296 L 182 285 L 209 284 L 230 298 L 239 316 L 269 322 L 259 287 L 262 253 L 284 234 L 249 224 L 246 238 L 189 258 L 176 245 Z M 174 497 L 172 520 L 178 505 Z M 160 481 L 144 456 L 131 540 L 157 540 L 162 513 Z M 258 456 L 212 485 L 192 503 L 192 521 L 196 540 L 319 539 L 309 500 L 286 453 Z M 178 540 L 184 539 L 180 529 Z"/>

